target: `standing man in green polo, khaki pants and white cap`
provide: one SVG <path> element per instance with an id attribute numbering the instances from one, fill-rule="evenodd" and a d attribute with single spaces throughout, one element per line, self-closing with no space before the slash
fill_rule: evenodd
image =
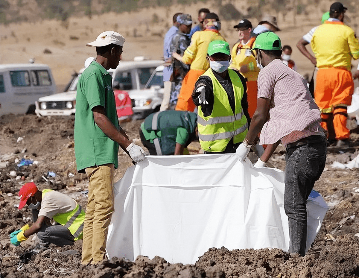
<path id="1" fill-rule="evenodd" d="M 89 178 L 84 222 L 82 264 L 106 258 L 106 238 L 113 207 L 113 176 L 120 147 L 135 162 L 145 151 L 131 143 L 118 124 L 115 95 L 108 69 L 116 69 L 125 39 L 106 31 L 87 46 L 96 47 L 96 58 L 81 75 L 76 94 L 75 157 L 79 173 Z"/>

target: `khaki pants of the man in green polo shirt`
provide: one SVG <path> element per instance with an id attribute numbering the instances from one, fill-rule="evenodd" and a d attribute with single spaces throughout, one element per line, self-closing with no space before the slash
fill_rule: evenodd
<path id="1" fill-rule="evenodd" d="M 96 264 L 106 258 L 108 225 L 114 212 L 113 164 L 85 169 L 89 193 L 84 222 L 81 264 Z"/>

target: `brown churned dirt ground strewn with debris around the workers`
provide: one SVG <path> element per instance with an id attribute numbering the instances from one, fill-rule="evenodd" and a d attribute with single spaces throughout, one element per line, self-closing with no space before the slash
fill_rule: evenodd
<path id="1" fill-rule="evenodd" d="M 140 144 L 141 120 L 123 125 L 130 139 Z M 163 258 L 139 256 L 135 262 L 113 258 L 96 267 L 80 265 L 81 244 L 39 250 L 30 237 L 20 246 L 10 244 L 9 233 L 32 223 L 31 212 L 19 210 L 18 191 L 34 181 L 39 189 L 69 194 L 83 207 L 87 202 L 87 180 L 76 173 L 74 117 L 6 115 L 0 118 L 0 277 L 359 277 L 358 170 L 332 168 L 333 161 L 348 162 L 358 154 L 359 135 L 351 135 L 351 147 L 340 153 L 328 149 L 327 166 L 314 189 L 330 206 L 311 249 L 303 258 L 278 249 L 227 250 L 211 248 L 195 265 L 169 264 Z M 19 139 L 23 138 L 23 139 Z M 190 153 L 199 153 L 192 143 Z M 284 151 L 277 149 L 270 162 L 284 170 Z M 33 165 L 15 162 L 31 159 Z M 119 153 L 120 179 L 130 159 Z M 35 165 L 35 163 L 37 163 Z M 48 172 L 54 172 L 55 177 Z M 47 181 L 46 181 L 47 180 Z"/>

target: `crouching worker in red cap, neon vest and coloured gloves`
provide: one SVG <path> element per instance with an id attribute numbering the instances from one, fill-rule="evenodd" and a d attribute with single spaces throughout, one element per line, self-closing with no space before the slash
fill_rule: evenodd
<path id="1" fill-rule="evenodd" d="M 19 209 L 27 204 L 32 209 L 34 224 L 12 232 L 11 244 L 18 246 L 34 233 L 43 242 L 57 246 L 72 245 L 82 239 L 85 211 L 74 199 L 51 189 L 40 191 L 33 182 L 24 184 L 19 196 Z"/>

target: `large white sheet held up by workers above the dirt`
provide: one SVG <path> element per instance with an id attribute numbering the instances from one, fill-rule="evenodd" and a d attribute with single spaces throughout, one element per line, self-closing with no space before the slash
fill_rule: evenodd
<path id="1" fill-rule="evenodd" d="M 158 255 L 194 264 L 211 247 L 289 247 L 284 172 L 253 168 L 234 154 L 148 156 L 115 184 L 107 252 L 134 260 Z M 327 205 L 312 192 L 307 249 Z"/>

